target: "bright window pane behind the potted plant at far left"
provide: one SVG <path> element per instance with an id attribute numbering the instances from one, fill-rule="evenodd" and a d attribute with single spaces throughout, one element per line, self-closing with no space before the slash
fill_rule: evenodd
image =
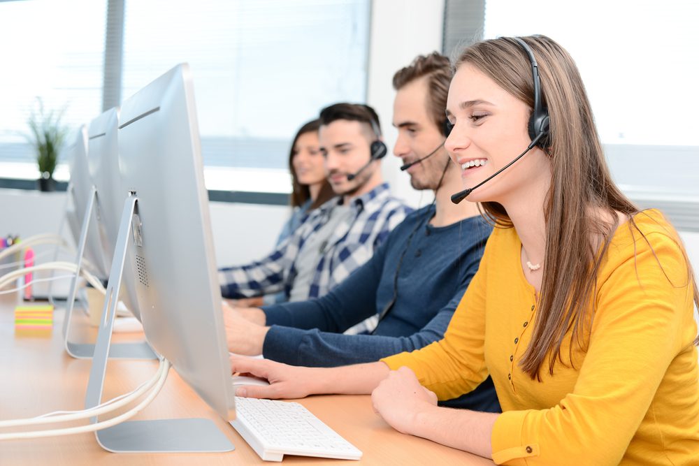
<path id="1" fill-rule="evenodd" d="M 101 112 L 105 10 L 104 0 L 0 3 L 2 176 L 38 177 L 24 137 L 37 97 L 47 110 L 65 108 L 73 128 Z"/>

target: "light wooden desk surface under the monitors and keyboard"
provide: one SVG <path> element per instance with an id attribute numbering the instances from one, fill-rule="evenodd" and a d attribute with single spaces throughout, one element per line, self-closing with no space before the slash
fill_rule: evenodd
<path id="1" fill-rule="evenodd" d="M 27 418 L 64 410 L 82 409 L 91 361 L 73 359 L 62 345 L 63 310 L 54 313 L 50 337 L 15 336 L 13 295 L 0 295 L 0 419 Z M 96 330 L 75 312 L 71 339 L 90 341 Z M 140 339 L 141 335 L 115 334 L 113 341 Z M 94 341 L 94 340 L 92 340 Z M 103 400 L 127 393 L 156 370 L 154 361 L 109 361 Z M 363 451 L 366 465 L 492 465 L 491 461 L 393 430 L 371 409 L 368 395 L 324 395 L 299 400 L 324 423 Z M 175 417 L 210 418 L 225 432 L 235 451 L 229 453 L 133 454 L 109 453 L 94 434 L 67 435 L 0 442 L 0 465 L 253 465 L 273 464 L 259 459 L 245 440 L 170 371 L 163 390 L 134 419 Z M 2 430 L 1 432 L 7 432 Z M 284 456 L 285 464 L 353 465 L 353 461 Z"/>

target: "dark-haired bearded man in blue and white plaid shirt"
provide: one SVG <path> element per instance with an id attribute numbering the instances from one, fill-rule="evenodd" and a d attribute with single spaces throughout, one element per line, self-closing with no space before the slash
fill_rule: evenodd
<path id="1" fill-rule="evenodd" d="M 220 269 L 224 298 L 282 290 L 290 301 L 324 296 L 368 261 L 410 212 L 383 182 L 378 160 L 383 154 L 376 152 L 380 126 L 373 108 L 338 103 L 324 108 L 320 119 L 320 150 L 338 197 L 310 212 L 264 259 Z M 354 331 L 361 330 L 365 328 Z"/>

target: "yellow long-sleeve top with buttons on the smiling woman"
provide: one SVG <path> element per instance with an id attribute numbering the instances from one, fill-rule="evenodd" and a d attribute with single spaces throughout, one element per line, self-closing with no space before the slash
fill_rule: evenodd
<path id="1" fill-rule="evenodd" d="M 412 368 L 445 400 L 490 373 L 503 414 L 491 436 L 507 465 L 699 465 L 699 370 L 692 290 L 677 234 L 657 211 L 617 228 L 598 273 L 584 351 L 541 381 L 521 371 L 537 316 L 514 228 L 496 228 L 439 342 L 382 361 Z M 652 249 L 651 249 L 652 247 Z M 660 264 L 660 265 L 659 265 Z M 661 268 L 662 265 L 662 268 Z"/>

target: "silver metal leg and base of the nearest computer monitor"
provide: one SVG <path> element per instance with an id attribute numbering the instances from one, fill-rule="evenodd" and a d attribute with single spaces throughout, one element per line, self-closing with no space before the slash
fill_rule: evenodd
<path id="1" fill-rule="evenodd" d="M 136 196 L 129 196 L 124 202 L 104 300 L 103 318 L 100 321 L 92 357 L 85 409 L 96 407 L 101 402 L 107 360 L 108 356 L 112 355 L 110 341 L 117 310 L 117 297 L 122 284 L 132 219 L 134 214 L 138 213 L 137 203 Z M 92 418 L 92 423 L 96 423 L 96 418 Z M 115 453 L 221 453 L 234 449 L 228 437 L 216 427 L 215 423 L 204 418 L 127 421 L 98 430 L 95 436 L 103 449 Z"/>

